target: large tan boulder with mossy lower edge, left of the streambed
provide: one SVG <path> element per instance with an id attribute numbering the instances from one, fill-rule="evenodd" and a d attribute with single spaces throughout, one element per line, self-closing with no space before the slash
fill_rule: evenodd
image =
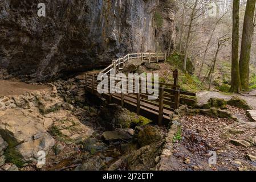
<path id="1" fill-rule="evenodd" d="M 6 158 L 18 166 L 33 161 L 39 151 L 46 154 L 55 140 L 46 131 L 39 113 L 23 113 L 22 109 L 6 110 L 0 116 L 0 135 L 9 144 Z"/>

